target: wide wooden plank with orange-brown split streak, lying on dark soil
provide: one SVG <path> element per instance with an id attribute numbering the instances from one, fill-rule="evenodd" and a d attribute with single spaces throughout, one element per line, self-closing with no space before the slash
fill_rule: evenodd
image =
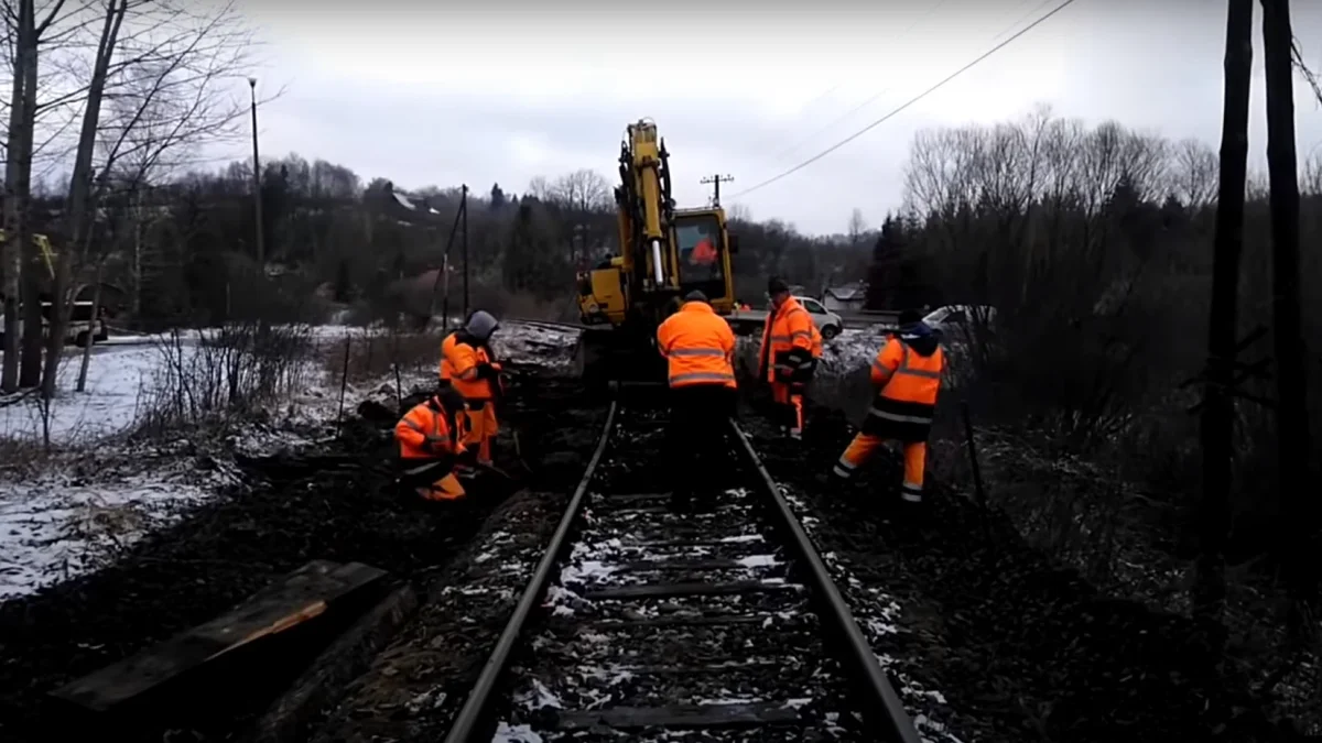
<path id="1" fill-rule="evenodd" d="M 279 636 L 327 613 L 332 604 L 379 584 L 386 572 L 362 563 L 312 561 L 222 616 L 93 672 L 52 695 L 107 711 L 204 664 Z"/>

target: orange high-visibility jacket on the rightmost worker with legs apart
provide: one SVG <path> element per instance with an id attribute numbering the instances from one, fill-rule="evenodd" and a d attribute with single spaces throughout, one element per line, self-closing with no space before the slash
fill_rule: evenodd
<path id="1" fill-rule="evenodd" d="M 925 325 L 891 336 L 873 360 L 878 387 L 863 432 L 903 442 L 924 442 L 941 390 L 945 352 Z"/>

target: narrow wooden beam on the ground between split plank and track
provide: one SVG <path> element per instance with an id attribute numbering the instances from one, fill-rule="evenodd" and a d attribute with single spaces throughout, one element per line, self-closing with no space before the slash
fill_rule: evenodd
<path id="1" fill-rule="evenodd" d="M 391 591 L 348 632 L 330 644 L 303 676 L 256 723 L 254 743 L 295 743 L 330 707 L 345 686 L 386 646 L 399 627 L 418 608 L 408 586 Z"/>

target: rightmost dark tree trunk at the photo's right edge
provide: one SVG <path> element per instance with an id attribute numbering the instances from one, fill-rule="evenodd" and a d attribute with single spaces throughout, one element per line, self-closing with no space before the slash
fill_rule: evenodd
<path id="1" fill-rule="evenodd" d="M 1288 625 L 1302 628 L 1303 602 L 1313 598 L 1315 562 L 1306 541 L 1315 529 L 1315 489 L 1309 461 L 1307 372 L 1300 317 L 1300 182 L 1294 152 L 1294 69 L 1289 0 L 1263 0 L 1266 67 L 1266 165 L 1272 182 L 1272 325 L 1276 345 L 1276 431 L 1280 479 L 1280 562 L 1290 595 Z M 1311 494 L 1310 494 L 1311 493 Z"/>

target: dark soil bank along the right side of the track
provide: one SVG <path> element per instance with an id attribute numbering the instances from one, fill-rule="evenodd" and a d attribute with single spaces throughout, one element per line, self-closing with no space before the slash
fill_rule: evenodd
<path id="1" fill-rule="evenodd" d="M 820 549 L 904 608 L 906 665 L 945 695 L 965 740 L 1282 739 L 1192 621 L 1099 595 L 1001 514 L 985 539 L 980 509 L 931 473 L 919 513 L 896 502 L 898 456 L 828 490 L 822 475 L 853 435 L 838 412 L 813 410 L 801 447 L 744 424 L 771 473 L 817 509 Z"/>

